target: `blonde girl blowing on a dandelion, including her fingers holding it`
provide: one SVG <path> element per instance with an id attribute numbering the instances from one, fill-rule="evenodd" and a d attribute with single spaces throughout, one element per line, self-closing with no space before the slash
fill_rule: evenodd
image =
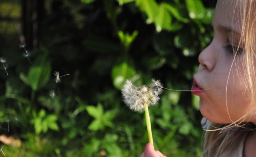
<path id="1" fill-rule="evenodd" d="M 256 157 L 256 0 L 218 0 L 212 26 L 191 88 L 205 117 L 202 156 Z M 141 157 L 165 156 L 149 143 Z"/>

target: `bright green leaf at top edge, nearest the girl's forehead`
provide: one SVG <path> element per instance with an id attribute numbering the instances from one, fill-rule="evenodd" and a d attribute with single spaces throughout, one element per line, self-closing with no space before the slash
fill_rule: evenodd
<path id="1" fill-rule="evenodd" d="M 186 0 L 186 6 L 191 19 L 201 19 L 206 13 L 201 0 Z"/>

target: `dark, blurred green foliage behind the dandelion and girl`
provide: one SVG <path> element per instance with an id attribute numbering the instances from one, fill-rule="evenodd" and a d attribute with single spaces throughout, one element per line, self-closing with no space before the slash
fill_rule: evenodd
<path id="1" fill-rule="evenodd" d="M 0 57 L 6 59 L 0 70 L 0 134 L 22 140 L 21 147 L 5 146 L 3 153 L 139 156 L 148 143 L 144 114 L 124 105 L 120 89 L 126 79 L 141 86 L 152 78 L 166 88 L 190 89 L 197 57 L 211 42 L 215 4 L 45 0 L 40 40 L 25 47 L 26 53 L 17 33 L 22 21 L 4 18 L 19 19 L 22 2 L 0 2 Z M 54 71 L 70 75 L 55 83 Z M 197 97 L 165 90 L 149 110 L 156 149 L 167 156 L 200 156 Z"/>

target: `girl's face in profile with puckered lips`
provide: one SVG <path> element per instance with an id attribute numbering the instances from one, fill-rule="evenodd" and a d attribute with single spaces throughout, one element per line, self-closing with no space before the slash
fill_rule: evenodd
<path id="1" fill-rule="evenodd" d="M 192 93 L 200 97 L 200 111 L 215 123 L 232 123 L 250 110 L 246 77 L 242 68 L 242 49 L 234 57 L 242 32 L 241 19 L 234 15 L 229 0 L 218 0 L 212 21 L 214 38 L 199 55 L 199 69 L 194 76 Z M 232 21 L 232 17 L 236 19 Z M 240 53 L 240 55 L 239 55 Z M 255 118 L 248 115 L 246 121 Z"/>

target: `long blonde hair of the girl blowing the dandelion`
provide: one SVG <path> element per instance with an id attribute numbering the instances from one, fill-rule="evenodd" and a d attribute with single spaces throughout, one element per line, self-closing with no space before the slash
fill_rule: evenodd
<path id="1" fill-rule="evenodd" d="M 237 74 L 240 70 L 245 71 L 245 74 L 240 76 L 243 77 L 241 81 L 246 80 L 245 90 L 249 91 L 251 107 L 243 117 L 232 124 L 209 124 L 211 131 L 206 131 L 203 135 L 203 157 L 219 157 L 224 152 L 227 156 L 231 155 L 239 147 L 242 135 L 256 128 L 255 124 L 245 121 L 245 117 L 251 113 L 256 102 L 256 0 L 228 0 L 228 2 L 234 10 L 234 15 L 230 16 L 232 21 L 242 20 L 239 47 L 243 52 L 241 54 L 236 52 L 234 55 L 234 58 L 242 59 L 242 64 L 239 62 L 238 65 L 233 61 L 233 66 L 237 67 Z"/>

